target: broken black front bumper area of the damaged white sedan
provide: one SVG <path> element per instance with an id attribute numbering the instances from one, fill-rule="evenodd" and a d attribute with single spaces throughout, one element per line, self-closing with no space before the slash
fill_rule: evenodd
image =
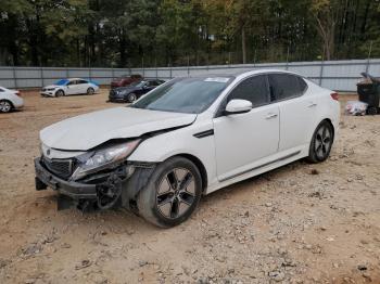
<path id="1" fill-rule="evenodd" d="M 144 163 L 121 165 L 80 181 L 71 181 L 56 177 L 43 166 L 41 158 L 36 158 L 36 190 L 41 191 L 49 186 L 59 192 L 60 196 L 68 197 L 72 201 L 71 205 L 80 209 L 92 204 L 99 209 L 123 206 L 134 210 L 137 194 L 148 182 L 154 167 L 155 164 Z M 72 207 L 67 205 L 67 198 L 65 204 L 60 206 L 59 202 L 59 209 Z"/>

